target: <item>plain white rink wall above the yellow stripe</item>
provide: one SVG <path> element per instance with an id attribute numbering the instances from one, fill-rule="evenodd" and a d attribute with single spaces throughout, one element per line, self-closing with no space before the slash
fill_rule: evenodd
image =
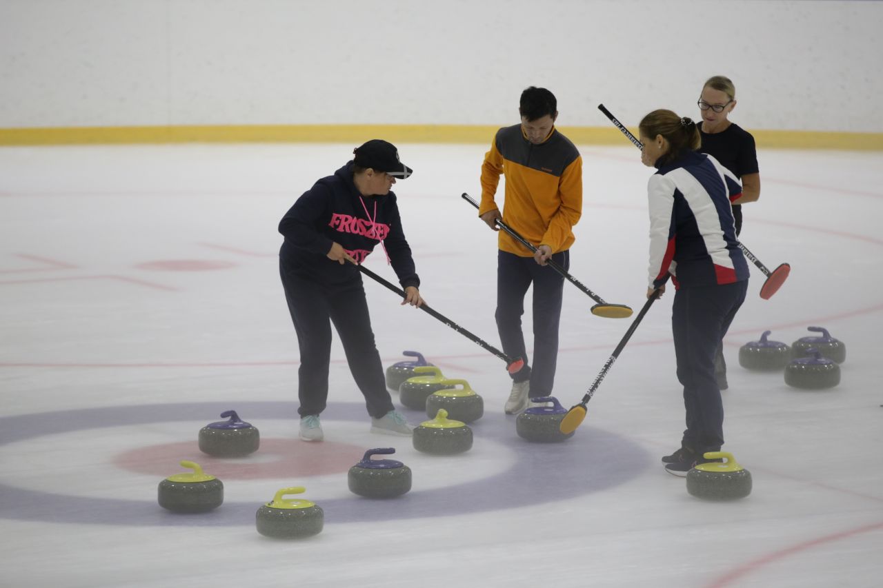
<path id="1" fill-rule="evenodd" d="M 883 132 L 883 3 L 0 0 L 0 128 L 560 124 L 696 116 L 736 82 L 751 129 Z"/>

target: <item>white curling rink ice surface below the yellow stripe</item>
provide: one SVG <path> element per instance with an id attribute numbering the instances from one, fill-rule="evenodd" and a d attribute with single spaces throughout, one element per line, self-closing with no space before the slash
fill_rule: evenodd
<path id="1" fill-rule="evenodd" d="M 502 413 L 500 359 L 366 279 L 384 366 L 420 351 L 484 397 L 473 449 L 427 456 L 410 439 L 368 433 L 337 340 L 326 441 L 298 441 L 298 346 L 276 227 L 353 147 L 0 149 L 0 585 L 883 583 L 883 154 L 759 150 L 761 199 L 743 207 L 742 240 L 768 268 L 788 261 L 792 271 L 763 300 L 750 264 L 725 342 L 724 449 L 754 487 L 721 503 L 687 494 L 660 464 L 683 430 L 672 292 L 575 436 L 537 445 Z M 487 147 L 398 147 L 415 170 L 394 189 L 423 296 L 499 346 L 496 236 L 460 198 L 479 196 Z M 637 313 L 651 170 L 628 144 L 580 151 L 585 203 L 570 273 Z M 380 249 L 366 267 L 395 281 Z M 630 319 L 593 316 L 569 283 L 564 293 L 555 396 L 570 407 Z M 524 322 L 530 350 L 529 302 Z M 739 347 L 764 330 L 790 344 L 809 326 L 847 345 L 836 388 L 789 388 L 781 373 L 738 365 Z M 260 429 L 261 449 L 200 454 L 200 427 L 229 409 Z M 403 412 L 412 424 L 426 418 Z M 411 492 L 351 494 L 349 467 L 381 447 L 411 467 Z M 182 472 L 182 459 L 223 480 L 223 506 L 179 516 L 157 505 L 157 484 Z M 286 486 L 306 486 L 325 509 L 321 534 L 255 531 L 255 511 Z"/>

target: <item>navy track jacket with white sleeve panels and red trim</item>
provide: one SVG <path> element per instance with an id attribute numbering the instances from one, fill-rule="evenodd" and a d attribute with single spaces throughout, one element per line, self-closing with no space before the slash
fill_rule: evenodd
<path id="1" fill-rule="evenodd" d="M 742 185 L 711 155 L 690 151 L 650 177 L 650 288 L 748 279 L 730 205 Z"/>

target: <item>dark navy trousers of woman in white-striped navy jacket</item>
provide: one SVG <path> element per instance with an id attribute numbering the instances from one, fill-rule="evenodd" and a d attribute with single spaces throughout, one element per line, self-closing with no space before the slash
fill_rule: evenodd
<path id="1" fill-rule="evenodd" d="M 677 379 L 683 384 L 687 429 L 683 447 L 699 456 L 723 445 L 721 388 L 714 378 L 718 343 L 745 300 L 748 281 L 682 288 L 675 293 L 671 326 Z"/>

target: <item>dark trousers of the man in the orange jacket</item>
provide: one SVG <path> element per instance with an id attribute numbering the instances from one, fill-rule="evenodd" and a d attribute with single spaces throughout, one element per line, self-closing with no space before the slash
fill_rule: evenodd
<path id="1" fill-rule="evenodd" d="M 570 252 L 555 253 L 552 260 L 570 268 Z M 533 284 L 533 366 L 528 364 L 521 317 L 525 313 L 525 294 Z M 555 383 L 558 363 L 558 323 L 564 278 L 548 266 L 540 266 L 532 257 L 498 252 L 496 322 L 502 351 L 511 358 L 523 358 L 525 366 L 512 375 L 514 381 L 531 381 L 531 397 L 549 396 Z"/>

